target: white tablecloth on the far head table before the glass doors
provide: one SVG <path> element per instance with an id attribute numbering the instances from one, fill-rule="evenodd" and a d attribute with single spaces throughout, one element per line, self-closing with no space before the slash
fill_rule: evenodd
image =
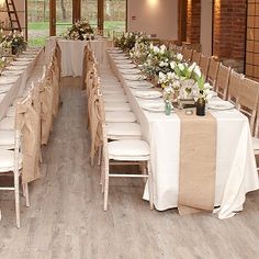
<path id="1" fill-rule="evenodd" d="M 55 41 L 58 41 L 61 49 L 61 76 L 82 76 L 83 49 L 88 42 L 50 37 L 46 43 L 46 57 L 49 56 L 53 46 L 55 45 Z M 109 38 L 100 38 L 90 41 L 90 44 L 99 65 L 105 64 L 106 48 L 112 46 L 112 41 Z M 48 60 L 48 58 L 46 60 Z"/>

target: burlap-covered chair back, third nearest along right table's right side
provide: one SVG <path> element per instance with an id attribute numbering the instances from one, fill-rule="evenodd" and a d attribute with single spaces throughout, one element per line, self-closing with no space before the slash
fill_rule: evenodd
<path id="1" fill-rule="evenodd" d="M 230 67 L 226 67 L 223 64 L 219 65 L 215 82 L 215 90 L 218 97 L 221 97 L 223 100 L 227 99 L 230 71 L 232 71 Z"/>

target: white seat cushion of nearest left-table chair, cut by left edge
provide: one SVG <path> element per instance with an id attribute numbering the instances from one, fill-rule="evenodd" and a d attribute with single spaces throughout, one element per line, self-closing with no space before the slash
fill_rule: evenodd
<path id="1" fill-rule="evenodd" d="M 19 156 L 19 169 L 22 168 L 22 156 Z M 0 149 L 0 172 L 14 170 L 14 151 Z"/>

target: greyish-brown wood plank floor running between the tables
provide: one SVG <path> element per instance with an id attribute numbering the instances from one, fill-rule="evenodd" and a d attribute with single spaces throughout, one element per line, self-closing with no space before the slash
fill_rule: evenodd
<path id="1" fill-rule="evenodd" d="M 149 211 L 140 181 L 113 180 L 104 213 L 79 82 L 63 80 L 64 104 L 44 148 L 43 177 L 30 185 L 31 207 L 22 200 L 21 229 L 12 193 L 0 194 L 0 259 L 259 258 L 259 192 L 248 194 L 239 215 L 219 221 Z"/>

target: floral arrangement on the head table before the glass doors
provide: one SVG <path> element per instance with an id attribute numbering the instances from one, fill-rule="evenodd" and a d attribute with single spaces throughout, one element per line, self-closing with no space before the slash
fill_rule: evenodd
<path id="1" fill-rule="evenodd" d="M 87 20 L 78 21 L 68 27 L 61 35 L 66 40 L 88 41 L 93 40 L 93 30 Z"/>

